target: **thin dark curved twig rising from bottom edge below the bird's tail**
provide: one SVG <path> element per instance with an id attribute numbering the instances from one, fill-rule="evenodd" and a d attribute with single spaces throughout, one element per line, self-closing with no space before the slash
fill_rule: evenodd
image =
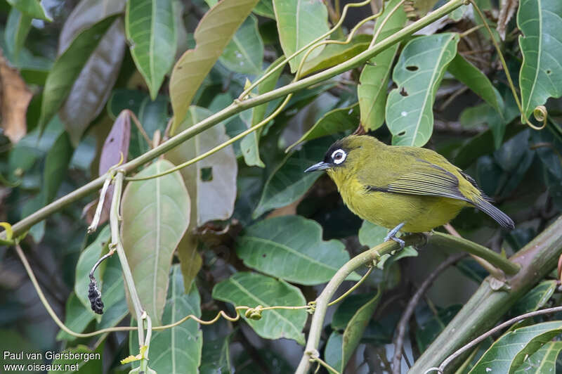
<path id="1" fill-rule="evenodd" d="M 439 266 L 431 271 L 426 280 L 424 280 L 424 283 L 421 283 L 419 289 L 416 291 L 416 293 L 414 293 L 414 296 L 412 297 L 412 299 L 410 299 L 410 302 L 408 302 L 406 310 L 402 314 L 402 317 L 400 317 L 400 322 L 398 322 L 398 328 L 396 328 L 397 334 L 394 342 L 394 357 L 392 361 L 393 374 L 400 374 L 400 361 L 402 361 L 402 350 L 404 347 L 406 325 L 408 321 L 410 321 L 410 317 L 412 317 L 412 314 L 414 314 L 414 309 L 416 308 L 417 303 L 419 302 L 421 297 L 424 296 L 426 291 L 429 290 L 429 288 L 433 284 L 433 281 L 436 280 L 440 273 L 443 273 L 445 269 L 447 269 L 452 264 L 455 264 L 455 262 L 459 261 L 459 259 L 462 259 L 462 257 L 464 256 L 466 256 L 465 253 L 454 254 L 451 257 L 445 259 L 444 262 L 441 262 Z"/>

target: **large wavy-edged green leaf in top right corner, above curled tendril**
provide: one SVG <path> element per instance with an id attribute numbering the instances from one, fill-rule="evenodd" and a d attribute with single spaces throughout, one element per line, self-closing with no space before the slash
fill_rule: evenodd
<path id="1" fill-rule="evenodd" d="M 517 25 L 523 35 L 519 46 L 521 105 L 529 117 L 537 105 L 562 95 L 562 3 L 558 0 L 521 0 Z"/>

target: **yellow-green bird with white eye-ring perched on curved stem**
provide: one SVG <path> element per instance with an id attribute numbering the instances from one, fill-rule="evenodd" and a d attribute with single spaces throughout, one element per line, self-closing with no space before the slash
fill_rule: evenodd
<path id="1" fill-rule="evenodd" d="M 324 160 L 305 172 L 326 170 L 347 207 L 362 219 L 398 231 L 419 233 L 446 224 L 463 207 L 477 207 L 505 228 L 507 214 L 490 204 L 476 181 L 426 148 L 387 146 L 369 135 L 336 141 Z"/>

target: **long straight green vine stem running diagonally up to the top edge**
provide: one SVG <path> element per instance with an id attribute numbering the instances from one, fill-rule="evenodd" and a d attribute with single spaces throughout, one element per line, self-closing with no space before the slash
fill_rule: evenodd
<path id="1" fill-rule="evenodd" d="M 330 67 L 329 69 L 318 72 L 315 75 L 303 78 L 298 82 L 292 82 L 290 84 L 287 84 L 286 86 L 282 86 L 278 89 L 274 89 L 273 91 L 263 93 L 254 98 L 247 98 L 244 101 L 235 101 L 223 110 L 207 117 L 206 119 L 202 120 L 198 124 L 193 125 L 189 129 L 181 131 L 181 133 L 177 134 L 173 138 L 170 138 L 168 141 L 165 141 L 154 149 L 149 150 L 147 153 L 144 153 L 143 155 L 136 157 L 134 160 L 127 162 L 121 167 L 121 169 L 125 173 L 132 172 L 138 167 L 144 165 L 146 162 L 149 162 L 159 155 L 163 155 L 168 150 L 179 146 L 181 143 L 187 141 L 193 136 L 200 134 L 202 131 L 209 129 L 209 127 L 214 126 L 215 124 L 218 124 L 219 122 L 222 122 L 223 120 L 226 120 L 227 118 L 239 112 L 242 112 L 243 110 L 254 108 L 256 105 L 267 103 L 268 101 L 272 101 L 275 98 L 286 96 L 289 93 L 305 89 L 308 86 L 312 86 L 313 84 L 317 84 L 331 77 L 335 77 L 342 72 L 353 69 L 353 67 L 356 67 L 361 63 L 364 63 L 366 60 L 377 56 L 378 53 L 381 53 L 381 51 L 384 51 L 389 46 L 396 44 L 407 37 L 410 37 L 410 35 L 414 32 L 421 30 L 421 28 L 438 20 L 439 18 L 443 17 L 443 15 L 454 11 L 459 6 L 462 6 L 464 4 L 464 1 L 466 0 L 448 1 L 447 4 L 441 6 L 440 8 L 427 15 L 424 15 L 424 17 L 420 18 L 416 22 L 412 22 L 410 25 L 407 25 L 402 30 L 395 32 L 391 36 L 386 37 L 386 39 L 379 41 L 372 48 L 359 53 L 357 56 L 350 58 L 345 63 Z M 72 202 L 75 202 L 80 198 L 93 193 L 93 191 L 98 190 L 103 185 L 104 181 L 105 175 L 99 176 L 93 181 L 86 183 L 84 186 L 77 188 L 77 190 L 74 190 L 71 193 L 63 196 L 62 198 L 51 202 L 51 204 L 46 205 L 45 207 L 39 209 L 37 212 L 30 214 L 21 221 L 18 221 L 18 223 L 13 225 L 13 231 L 15 235 L 17 236 L 18 234 L 25 232 L 28 228 L 30 228 L 34 224 L 37 224 L 39 221 L 42 221 L 49 215 L 58 212 L 58 210 L 71 204 Z M 0 235 L 3 238 L 5 236 L 4 232 L 0 233 Z"/>

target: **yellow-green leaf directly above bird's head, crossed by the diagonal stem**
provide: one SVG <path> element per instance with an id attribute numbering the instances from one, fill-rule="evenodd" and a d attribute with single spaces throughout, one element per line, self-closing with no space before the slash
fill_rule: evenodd
<path id="1" fill-rule="evenodd" d="M 390 12 L 398 5 L 399 0 L 388 1 L 383 14 L 377 19 L 374 32 L 379 32 L 377 41 L 402 28 L 406 22 L 406 13 L 400 6 L 392 15 Z M 381 23 L 390 15 L 386 24 Z M 382 28 L 381 28 L 382 27 Z M 392 63 L 399 43 L 385 49 L 371 58 L 363 67 L 359 77 L 357 95 L 361 108 L 361 124 L 365 130 L 375 130 L 384 122 L 384 105 L 388 90 L 388 78 L 391 76 Z"/>

